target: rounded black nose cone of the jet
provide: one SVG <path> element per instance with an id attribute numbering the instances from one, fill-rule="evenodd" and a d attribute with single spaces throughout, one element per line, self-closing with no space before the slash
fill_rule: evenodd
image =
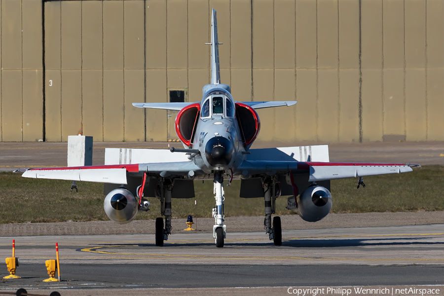
<path id="1" fill-rule="evenodd" d="M 214 137 L 205 146 L 205 156 L 210 165 L 214 167 L 226 166 L 233 157 L 234 146 L 226 138 Z"/>

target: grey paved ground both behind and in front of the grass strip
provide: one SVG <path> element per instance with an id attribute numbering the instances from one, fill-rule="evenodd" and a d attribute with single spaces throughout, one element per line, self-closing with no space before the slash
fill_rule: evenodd
<path id="1" fill-rule="evenodd" d="M 253 148 L 313 144 L 323 143 L 255 143 Z M 168 145 L 181 146 L 98 142 L 93 165 L 104 163 L 106 147 Z M 444 165 L 443 142 L 330 144 L 329 150 L 330 161 Z M 66 166 L 66 153 L 67 143 L 0 143 L 0 171 Z M 112 222 L 1 224 L 0 257 L 10 256 L 15 239 L 22 279 L 0 280 L 0 292 L 26 288 L 36 295 L 57 290 L 63 296 L 259 296 L 321 289 L 315 294 L 387 295 L 381 290 L 387 288 L 390 295 L 421 295 L 408 289 L 444 295 L 444 212 L 330 214 L 317 223 L 304 223 L 295 215 L 281 218 L 281 247 L 258 229 L 263 217 L 229 217 L 222 249 L 206 229 L 212 219 L 200 219 L 198 230 L 190 233 L 180 230 L 183 221 L 173 220 L 179 230 L 164 247 L 154 244 L 153 221 L 134 221 L 120 230 Z M 54 259 L 56 242 L 62 282 L 43 283 L 48 277 L 44 260 Z M 315 294 L 310 290 L 305 295 Z"/>

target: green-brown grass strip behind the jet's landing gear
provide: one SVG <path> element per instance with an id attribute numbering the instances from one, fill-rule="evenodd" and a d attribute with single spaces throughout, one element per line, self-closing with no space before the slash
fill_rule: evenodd
<path id="1" fill-rule="evenodd" d="M 364 178 L 366 188 L 357 186 L 357 178 L 332 181 L 333 213 L 443 211 L 444 166 L 429 165 L 407 174 Z M 70 192 L 71 181 L 22 178 L 19 174 L 0 173 L 0 223 L 106 221 L 103 210 L 103 185 L 78 182 L 79 192 Z M 225 215 L 262 216 L 263 198 L 239 198 L 240 182 L 225 182 Z M 173 216 L 211 217 L 214 207 L 213 182 L 195 182 L 195 198 L 174 199 Z M 160 203 L 148 198 L 148 213 L 136 219 L 160 217 Z M 197 205 L 194 201 L 197 201 Z M 276 200 L 276 215 L 296 214 L 285 209 L 287 197 Z"/>

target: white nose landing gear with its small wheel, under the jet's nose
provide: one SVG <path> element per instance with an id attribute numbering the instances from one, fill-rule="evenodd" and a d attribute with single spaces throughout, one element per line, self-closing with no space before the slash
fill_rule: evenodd
<path id="1" fill-rule="evenodd" d="M 213 209 L 214 226 L 213 226 L 213 237 L 216 242 L 216 247 L 223 247 L 223 239 L 226 235 L 226 225 L 223 224 L 225 214 L 223 210 L 223 201 L 225 197 L 223 196 L 223 172 L 216 171 L 214 174 L 214 194 L 216 199 L 216 206 Z"/>

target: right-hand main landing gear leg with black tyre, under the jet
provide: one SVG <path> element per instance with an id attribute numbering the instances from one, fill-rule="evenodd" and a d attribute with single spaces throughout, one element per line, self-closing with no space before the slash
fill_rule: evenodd
<path id="1" fill-rule="evenodd" d="M 275 178 L 268 178 L 263 182 L 265 219 L 263 228 L 265 233 L 273 240 L 275 246 L 282 245 L 282 227 L 281 218 L 273 217 L 273 225 L 271 224 L 271 214 L 276 212 L 276 198 L 280 195 L 280 185 Z"/>

